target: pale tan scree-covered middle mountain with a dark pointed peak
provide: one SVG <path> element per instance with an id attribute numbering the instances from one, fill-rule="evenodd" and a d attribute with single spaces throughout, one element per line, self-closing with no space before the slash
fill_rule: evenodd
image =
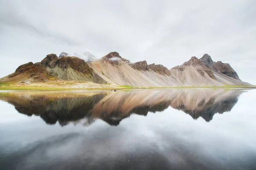
<path id="1" fill-rule="evenodd" d="M 101 59 L 88 63 L 94 71 L 110 84 L 142 87 L 170 87 L 180 83 L 174 75 L 161 74 L 159 65 L 147 65 L 145 61 L 131 63 L 119 53 L 111 52 Z"/>

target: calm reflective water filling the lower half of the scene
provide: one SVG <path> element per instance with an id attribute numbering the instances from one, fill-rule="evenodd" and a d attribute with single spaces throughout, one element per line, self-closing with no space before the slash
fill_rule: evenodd
<path id="1" fill-rule="evenodd" d="M 256 90 L 0 93 L 1 170 L 255 170 Z"/>

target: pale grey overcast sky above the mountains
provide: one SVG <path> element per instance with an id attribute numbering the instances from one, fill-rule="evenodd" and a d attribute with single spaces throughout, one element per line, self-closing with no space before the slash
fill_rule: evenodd
<path id="1" fill-rule="evenodd" d="M 207 53 L 256 84 L 255 9 L 255 0 L 0 0 L 0 77 L 62 51 L 167 68 Z"/>

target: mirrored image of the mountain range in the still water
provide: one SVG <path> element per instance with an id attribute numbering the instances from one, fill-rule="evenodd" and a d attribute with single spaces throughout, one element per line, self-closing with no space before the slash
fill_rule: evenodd
<path id="1" fill-rule="evenodd" d="M 169 106 L 209 122 L 215 113 L 231 111 L 239 95 L 236 89 L 161 89 L 117 92 L 10 92 L 0 99 L 15 106 L 19 113 L 40 116 L 47 124 L 64 126 L 92 124 L 102 119 L 109 125 L 119 125 L 131 114 L 147 116 Z"/>

